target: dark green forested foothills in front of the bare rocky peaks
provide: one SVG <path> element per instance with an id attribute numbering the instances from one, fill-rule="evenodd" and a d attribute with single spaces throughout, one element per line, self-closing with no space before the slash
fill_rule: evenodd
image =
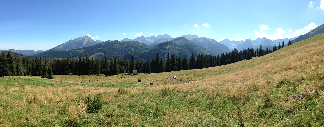
<path id="1" fill-rule="evenodd" d="M 115 40 L 70 51 L 51 50 L 38 54 L 37 56 L 42 58 L 63 58 L 84 57 L 88 55 L 89 57 L 97 58 L 119 56 L 120 59 L 130 59 L 134 53 L 136 60 L 151 60 L 156 57 L 156 53 L 159 53 L 161 58 L 165 58 L 168 53 L 184 57 L 185 54 L 191 55 L 192 52 L 195 55 L 205 53 L 215 55 L 203 46 L 199 46 L 184 37 L 178 37 L 154 47 L 137 41 L 121 42 Z"/>

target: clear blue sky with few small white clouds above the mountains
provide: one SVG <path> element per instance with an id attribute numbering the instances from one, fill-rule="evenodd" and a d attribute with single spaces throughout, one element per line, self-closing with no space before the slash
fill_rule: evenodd
<path id="1" fill-rule="evenodd" d="M 85 35 L 289 38 L 324 23 L 324 0 L 2 0 L 0 12 L 0 50 L 48 50 Z"/>

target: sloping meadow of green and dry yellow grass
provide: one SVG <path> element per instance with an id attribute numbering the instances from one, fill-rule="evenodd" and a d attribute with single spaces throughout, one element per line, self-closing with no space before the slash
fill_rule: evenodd
<path id="1" fill-rule="evenodd" d="M 0 78 L 0 126 L 324 126 L 324 96 L 310 92 L 316 83 L 324 90 L 323 49 L 321 34 L 262 57 L 200 70 Z M 167 96 L 161 96 L 164 84 Z M 118 88 L 127 93 L 117 94 Z M 98 92 L 102 109 L 85 113 L 75 98 Z M 289 98 L 300 92 L 304 99 Z"/>

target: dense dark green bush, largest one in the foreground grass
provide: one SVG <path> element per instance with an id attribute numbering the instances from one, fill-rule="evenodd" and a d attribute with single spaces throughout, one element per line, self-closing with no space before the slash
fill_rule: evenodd
<path id="1" fill-rule="evenodd" d="M 87 112 L 88 113 L 97 113 L 98 110 L 101 109 L 102 106 L 102 95 L 101 93 L 87 96 L 85 98 L 85 102 L 87 104 Z"/>

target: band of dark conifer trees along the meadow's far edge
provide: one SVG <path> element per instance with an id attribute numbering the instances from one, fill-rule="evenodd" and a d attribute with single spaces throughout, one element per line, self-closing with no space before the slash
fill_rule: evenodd
<path id="1" fill-rule="evenodd" d="M 291 41 L 288 42 L 291 45 Z M 41 75 L 43 78 L 53 79 L 53 74 L 111 74 L 132 73 L 137 70 L 138 73 L 160 73 L 178 70 L 203 69 L 215 66 L 235 63 L 241 60 L 249 60 L 252 57 L 270 54 L 284 47 L 284 42 L 279 46 L 273 46 L 270 50 L 253 48 L 238 51 L 233 49 L 232 52 L 222 53 L 221 55 L 212 56 L 211 54 L 197 54 L 193 52 L 190 57 L 178 57 L 174 54 L 167 55 L 166 60 L 161 58 L 157 53 L 152 60 L 134 60 L 134 54 L 130 60 L 119 60 L 115 58 L 94 59 L 89 56 L 79 58 L 59 58 L 59 59 L 42 59 L 39 57 L 22 56 L 12 52 L 2 52 L 0 55 L 0 76 L 30 76 Z M 197 57 L 195 57 L 197 56 Z"/>

